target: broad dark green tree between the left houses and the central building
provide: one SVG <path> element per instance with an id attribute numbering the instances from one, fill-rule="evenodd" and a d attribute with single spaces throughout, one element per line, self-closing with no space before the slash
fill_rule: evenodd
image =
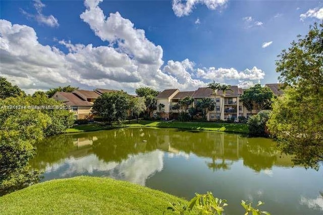
<path id="1" fill-rule="evenodd" d="M 122 121 L 127 117 L 129 96 L 124 91 L 103 93 L 93 104 L 93 110 L 110 124 L 112 121 Z"/>

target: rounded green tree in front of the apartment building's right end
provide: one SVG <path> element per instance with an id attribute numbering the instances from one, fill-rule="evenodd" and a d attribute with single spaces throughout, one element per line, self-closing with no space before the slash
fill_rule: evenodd
<path id="1" fill-rule="evenodd" d="M 259 113 L 262 110 L 270 109 L 273 97 L 274 93 L 270 88 L 256 84 L 244 91 L 240 96 L 240 101 L 250 113 L 252 110 Z"/>

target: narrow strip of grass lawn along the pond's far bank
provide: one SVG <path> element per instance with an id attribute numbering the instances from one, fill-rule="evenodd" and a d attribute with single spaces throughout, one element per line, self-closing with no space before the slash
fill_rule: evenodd
<path id="1" fill-rule="evenodd" d="M 247 134 L 248 127 L 246 124 L 234 123 L 212 123 L 212 122 L 164 122 L 164 121 L 145 121 L 140 120 L 125 122 L 122 124 L 113 124 L 112 126 L 102 126 L 101 124 L 77 125 L 73 128 L 67 129 L 66 133 L 75 133 L 83 131 L 98 131 L 104 129 L 113 129 L 120 127 L 157 127 L 157 128 L 178 128 L 178 129 L 192 129 L 205 131 L 224 131 L 234 133 Z"/>

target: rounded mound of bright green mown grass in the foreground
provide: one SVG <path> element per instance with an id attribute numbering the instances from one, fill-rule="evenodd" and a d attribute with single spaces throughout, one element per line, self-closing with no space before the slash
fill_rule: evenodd
<path id="1" fill-rule="evenodd" d="M 1 214 L 163 214 L 170 194 L 109 178 L 75 177 L 36 184 L 0 197 Z"/>

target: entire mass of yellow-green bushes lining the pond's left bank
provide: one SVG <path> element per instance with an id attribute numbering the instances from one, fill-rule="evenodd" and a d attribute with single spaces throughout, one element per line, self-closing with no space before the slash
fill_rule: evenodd
<path id="1" fill-rule="evenodd" d="M 20 109 L 10 109 L 8 105 L 20 105 Z M 28 166 L 34 156 L 34 143 L 44 136 L 63 133 L 73 125 L 68 110 L 22 108 L 30 105 L 61 105 L 61 102 L 48 99 L 42 92 L 0 99 L 0 195 L 36 183 L 39 172 L 31 171 Z"/>

